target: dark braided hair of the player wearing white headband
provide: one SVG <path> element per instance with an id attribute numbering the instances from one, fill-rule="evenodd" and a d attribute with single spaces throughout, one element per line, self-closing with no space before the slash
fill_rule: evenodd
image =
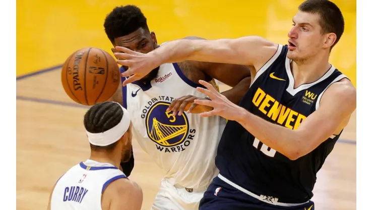
<path id="1" fill-rule="evenodd" d="M 84 127 L 90 133 L 101 133 L 118 125 L 123 117 L 120 105 L 114 102 L 97 103 L 84 115 Z M 96 146 L 90 144 L 94 151 L 112 151 L 118 141 L 107 146 Z"/>

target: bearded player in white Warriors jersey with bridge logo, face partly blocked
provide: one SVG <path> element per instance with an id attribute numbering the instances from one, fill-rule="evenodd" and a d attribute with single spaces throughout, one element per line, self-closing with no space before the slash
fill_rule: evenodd
<path id="1" fill-rule="evenodd" d="M 136 6 L 115 8 L 106 17 L 104 27 L 113 46 L 140 53 L 158 47 L 155 33 L 150 32 Z M 120 70 L 125 72 L 124 67 Z M 233 86 L 222 94 L 238 103 L 250 87 L 250 69 L 194 61 L 162 64 L 140 81 L 120 85 L 110 99 L 122 102 L 129 111 L 134 138 L 165 172 L 152 209 L 198 209 L 203 193 L 218 174 L 215 156 L 225 119 L 183 112 L 211 111 L 211 107 L 196 106 L 193 101 L 206 97 L 197 91 L 197 87 L 203 87 L 198 81 L 215 85 L 215 79 Z"/>

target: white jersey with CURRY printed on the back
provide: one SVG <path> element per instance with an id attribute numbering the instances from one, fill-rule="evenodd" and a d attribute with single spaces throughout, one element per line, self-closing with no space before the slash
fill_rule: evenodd
<path id="1" fill-rule="evenodd" d="M 111 164 L 81 162 L 57 181 L 50 200 L 51 210 L 101 210 L 102 192 L 120 178 L 127 177 Z"/>

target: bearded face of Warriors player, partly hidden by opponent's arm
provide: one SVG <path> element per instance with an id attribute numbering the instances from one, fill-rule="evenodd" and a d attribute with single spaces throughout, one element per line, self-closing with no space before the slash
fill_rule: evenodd
<path id="1" fill-rule="evenodd" d="M 131 34 L 115 38 L 113 45 L 126 47 L 133 51 L 146 54 L 157 47 L 157 38 L 153 31 L 149 32 L 146 29 L 139 28 Z M 112 50 L 113 53 L 119 52 L 115 49 Z M 158 74 L 158 69 L 153 69 L 148 75 L 140 79 L 140 82 L 147 82 L 154 79 Z"/>

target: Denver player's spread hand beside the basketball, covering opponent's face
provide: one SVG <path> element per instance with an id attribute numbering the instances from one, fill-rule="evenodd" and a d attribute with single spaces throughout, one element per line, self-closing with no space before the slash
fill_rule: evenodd
<path id="1" fill-rule="evenodd" d="M 122 52 L 114 53 L 116 63 L 128 67 L 128 70 L 121 74 L 122 77 L 129 77 L 123 82 L 123 86 L 145 77 L 161 65 L 154 54 L 143 54 L 121 46 L 115 46 L 115 49 Z"/>

